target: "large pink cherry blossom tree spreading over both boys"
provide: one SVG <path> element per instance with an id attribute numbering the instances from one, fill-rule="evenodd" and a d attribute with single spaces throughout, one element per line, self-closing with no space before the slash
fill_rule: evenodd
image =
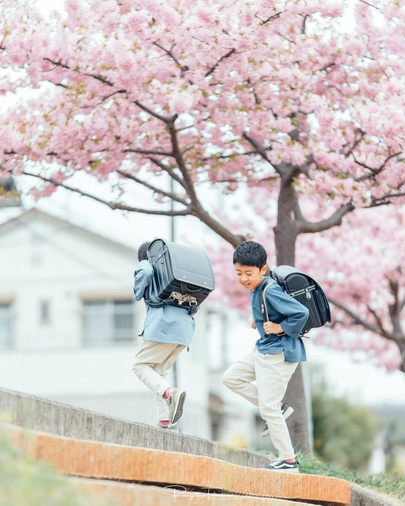
<path id="1" fill-rule="evenodd" d="M 277 200 L 276 262 L 294 265 L 297 238 L 403 203 L 404 7 L 357 0 L 355 31 L 345 8 L 67 0 L 46 20 L 33 0 L 4 0 L 2 173 L 39 181 L 38 197 L 64 187 L 112 209 L 194 216 L 233 247 L 248 230 L 225 224 L 199 188 L 248 185 L 256 206 L 264 190 Z M 131 186 L 155 206 L 131 201 Z"/>

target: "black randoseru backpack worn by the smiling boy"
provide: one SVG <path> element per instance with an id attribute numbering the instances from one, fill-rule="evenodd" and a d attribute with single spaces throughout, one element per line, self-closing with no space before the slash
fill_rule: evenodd
<path id="1" fill-rule="evenodd" d="M 289 295 L 297 299 L 309 310 L 308 320 L 301 331 L 301 336 L 309 330 L 321 327 L 331 321 L 331 309 L 328 297 L 311 276 L 291 265 L 278 265 L 270 270 L 270 277 L 265 278 L 262 286 L 262 314 L 268 321 L 265 304 L 266 288 L 277 283 Z"/>

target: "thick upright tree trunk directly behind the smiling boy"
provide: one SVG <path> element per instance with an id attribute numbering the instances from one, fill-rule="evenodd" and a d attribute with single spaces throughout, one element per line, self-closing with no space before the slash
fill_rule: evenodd
<path id="1" fill-rule="evenodd" d="M 297 240 L 294 221 L 294 188 L 292 171 L 281 175 L 278 196 L 277 225 L 274 228 L 274 243 L 277 265 L 295 264 L 295 244 Z M 291 441 L 296 450 L 312 451 L 312 413 L 309 381 L 305 381 L 306 364 L 298 364 L 289 385 L 285 400 L 294 408 L 287 420 Z"/>

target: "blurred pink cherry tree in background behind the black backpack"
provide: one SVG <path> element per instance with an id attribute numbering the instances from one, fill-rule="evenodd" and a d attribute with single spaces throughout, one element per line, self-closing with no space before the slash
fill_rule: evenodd
<path id="1" fill-rule="evenodd" d="M 339 229 L 317 234 L 312 241 L 303 236 L 297 246 L 305 252 L 303 268 L 316 262 L 318 251 L 328 265 L 327 271 L 323 268 L 322 286 L 333 302 L 334 321 L 332 331 L 321 332 L 315 340 L 403 372 L 404 224 L 404 207 L 355 211 Z"/>

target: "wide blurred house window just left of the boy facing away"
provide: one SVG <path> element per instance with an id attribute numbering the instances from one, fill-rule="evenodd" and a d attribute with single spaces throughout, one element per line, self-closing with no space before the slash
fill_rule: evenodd
<path id="1" fill-rule="evenodd" d="M 133 300 L 85 300 L 83 344 L 131 343 L 135 340 Z"/>

